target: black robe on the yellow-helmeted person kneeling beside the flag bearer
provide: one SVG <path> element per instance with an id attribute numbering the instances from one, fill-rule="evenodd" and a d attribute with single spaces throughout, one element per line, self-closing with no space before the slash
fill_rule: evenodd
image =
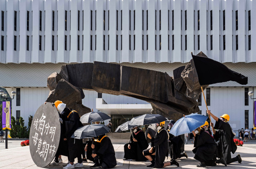
<path id="1" fill-rule="evenodd" d="M 216 165 L 215 151 L 217 144 L 208 131 L 201 131 L 200 134 L 196 134 L 194 147 L 192 150 L 195 154 L 194 159 L 205 162 L 207 166 Z"/>

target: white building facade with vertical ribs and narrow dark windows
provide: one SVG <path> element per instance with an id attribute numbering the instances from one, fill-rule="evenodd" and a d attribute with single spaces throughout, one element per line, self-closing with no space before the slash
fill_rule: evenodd
<path id="1" fill-rule="evenodd" d="M 210 85 L 208 108 L 228 113 L 235 130 L 252 127 L 246 93 L 256 86 L 254 0 L 1 0 L 0 10 L 0 86 L 19 93 L 12 115 L 25 124 L 48 97 L 48 75 L 62 64 L 101 61 L 172 76 L 191 52 L 203 51 L 249 79 Z M 84 92 L 85 106 L 120 119 L 150 110 L 138 99 Z"/>

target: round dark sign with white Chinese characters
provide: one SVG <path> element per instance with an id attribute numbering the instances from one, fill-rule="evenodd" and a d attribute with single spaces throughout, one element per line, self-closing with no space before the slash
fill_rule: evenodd
<path id="1" fill-rule="evenodd" d="M 57 108 L 43 103 L 33 117 L 29 133 L 29 149 L 34 163 L 46 167 L 56 155 L 60 142 L 60 122 Z"/>

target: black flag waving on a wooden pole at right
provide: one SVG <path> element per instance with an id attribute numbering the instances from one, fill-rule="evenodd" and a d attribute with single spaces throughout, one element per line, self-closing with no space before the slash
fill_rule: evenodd
<path id="1" fill-rule="evenodd" d="M 224 64 L 203 56 L 194 56 L 196 72 L 200 85 L 211 85 L 214 83 L 235 81 L 241 85 L 248 83 L 248 77 L 234 72 Z"/>

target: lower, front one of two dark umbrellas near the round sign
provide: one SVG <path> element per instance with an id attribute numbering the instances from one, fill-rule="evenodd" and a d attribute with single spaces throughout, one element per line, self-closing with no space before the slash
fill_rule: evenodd
<path id="1" fill-rule="evenodd" d="M 106 127 L 104 124 L 90 124 L 79 127 L 71 137 L 77 139 L 97 137 L 108 133 L 109 130 L 109 127 Z"/>

